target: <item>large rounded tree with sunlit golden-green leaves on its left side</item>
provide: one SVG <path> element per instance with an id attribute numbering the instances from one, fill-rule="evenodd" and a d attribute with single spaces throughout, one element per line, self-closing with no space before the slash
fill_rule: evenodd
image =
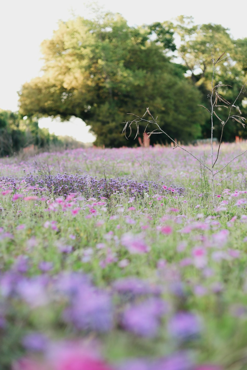
<path id="1" fill-rule="evenodd" d="M 200 135 L 200 93 L 184 77 L 186 68 L 166 56 L 175 50 L 166 24 L 129 27 L 112 13 L 77 17 L 60 22 L 41 48 L 43 75 L 21 88 L 21 114 L 80 117 L 96 144 L 118 147 L 133 145 L 121 136 L 126 113 L 141 115 L 149 106 L 168 134 L 184 141 Z"/>

